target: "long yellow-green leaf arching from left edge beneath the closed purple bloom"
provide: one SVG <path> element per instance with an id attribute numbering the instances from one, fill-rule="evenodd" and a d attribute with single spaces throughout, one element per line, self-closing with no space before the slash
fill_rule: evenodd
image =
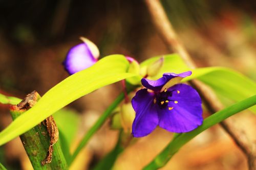
<path id="1" fill-rule="evenodd" d="M 63 80 L 42 96 L 33 108 L 15 119 L 0 133 L 0 145 L 33 128 L 81 96 L 134 76 L 126 72 L 128 66 L 129 63 L 124 56 L 112 55 Z"/>

